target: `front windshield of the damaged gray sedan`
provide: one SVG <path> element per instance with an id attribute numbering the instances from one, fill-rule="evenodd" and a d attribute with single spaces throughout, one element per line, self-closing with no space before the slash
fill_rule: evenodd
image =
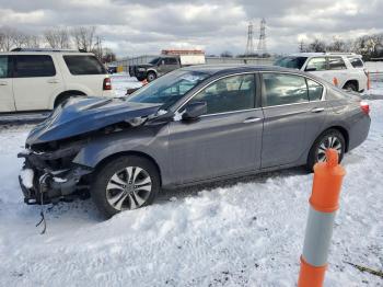
<path id="1" fill-rule="evenodd" d="M 127 101 L 159 103 L 166 110 L 208 77 L 206 72 L 175 70 L 140 88 Z"/>

